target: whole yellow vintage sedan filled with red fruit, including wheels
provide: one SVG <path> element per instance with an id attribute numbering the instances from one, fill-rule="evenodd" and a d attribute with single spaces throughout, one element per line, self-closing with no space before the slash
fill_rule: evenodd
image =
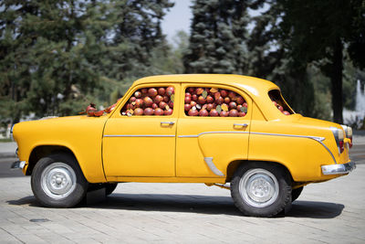
<path id="1" fill-rule="evenodd" d="M 119 182 L 204 183 L 230 189 L 245 215 L 271 217 L 303 186 L 355 168 L 350 127 L 303 117 L 274 83 L 239 75 L 143 78 L 110 113 L 19 122 L 13 133 L 13 167 L 46 207 Z"/>

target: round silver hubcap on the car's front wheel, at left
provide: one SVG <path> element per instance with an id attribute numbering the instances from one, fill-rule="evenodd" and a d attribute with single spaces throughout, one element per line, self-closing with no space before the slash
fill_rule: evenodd
<path id="1" fill-rule="evenodd" d="M 62 199 L 75 190 L 75 172 L 68 164 L 50 164 L 42 172 L 41 186 L 47 196 Z"/>

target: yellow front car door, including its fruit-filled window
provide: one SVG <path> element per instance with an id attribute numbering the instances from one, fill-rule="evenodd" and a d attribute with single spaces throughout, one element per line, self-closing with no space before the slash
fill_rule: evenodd
<path id="1" fill-rule="evenodd" d="M 179 91 L 179 83 L 153 83 L 140 85 L 123 97 L 104 129 L 102 151 L 107 178 L 175 176 L 179 102 L 173 101 Z"/>

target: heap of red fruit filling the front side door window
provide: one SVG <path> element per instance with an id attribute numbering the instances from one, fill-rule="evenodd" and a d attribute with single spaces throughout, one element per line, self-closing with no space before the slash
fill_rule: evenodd
<path id="1" fill-rule="evenodd" d="M 124 105 L 122 115 L 171 115 L 175 90 L 173 87 L 143 88 L 134 92 Z"/>

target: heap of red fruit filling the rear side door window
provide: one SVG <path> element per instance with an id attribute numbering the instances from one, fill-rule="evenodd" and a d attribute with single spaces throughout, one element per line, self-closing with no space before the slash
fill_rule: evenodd
<path id="1" fill-rule="evenodd" d="M 245 99 L 232 90 L 215 88 L 187 88 L 185 114 L 189 116 L 244 117 Z"/>

